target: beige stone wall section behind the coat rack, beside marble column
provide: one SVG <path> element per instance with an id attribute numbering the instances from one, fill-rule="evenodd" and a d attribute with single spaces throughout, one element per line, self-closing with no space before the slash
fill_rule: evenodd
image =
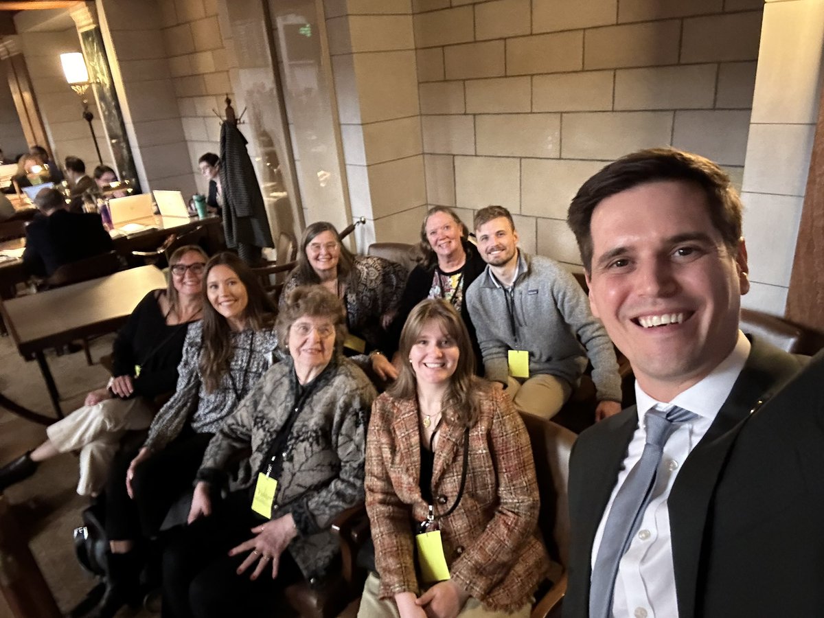
<path id="1" fill-rule="evenodd" d="M 230 92 L 217 2 L 97 0 L 141 184 L 206 190 L 197 159 L 219 152 L 213 109 Z"/>

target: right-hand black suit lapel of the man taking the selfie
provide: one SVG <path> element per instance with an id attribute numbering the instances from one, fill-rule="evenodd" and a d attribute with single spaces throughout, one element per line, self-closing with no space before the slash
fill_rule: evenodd
<path id="1" fill-rule="evenodd" d="M 797 370 L 789 354 L 754 340 L 733 390 L 678 473 L 668 508 L 679 616 L 695 615 L 709 503 L 728 453 L 751 411 Z"/>

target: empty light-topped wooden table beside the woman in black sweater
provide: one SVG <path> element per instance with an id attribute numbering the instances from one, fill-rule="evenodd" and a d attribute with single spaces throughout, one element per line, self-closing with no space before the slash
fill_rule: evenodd
<path id="1" fill-rule="evenodd" d="M 0 307 L 9 334 L 24 358 L 36 358 L 58 418 L 63 417 L 60 395 L 44 350 L 119 329 L 150 290 L 165 287 L 166 277 L 159 269 L 141 266 L 2 302 Z M 0 405 L 30 420 L 44 424 L 54 421 L 30 410 L 23 414 L 22 406 L 14 402 L 6 405 L 7 402 L 5 397 L 0 399 Z"/>

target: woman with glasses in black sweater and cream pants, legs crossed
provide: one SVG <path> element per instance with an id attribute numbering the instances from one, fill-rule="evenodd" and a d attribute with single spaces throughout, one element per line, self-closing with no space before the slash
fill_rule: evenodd
<path id="1" fill-rule="evenodd" d="M 171 255 L 166 289 L 147 293 L 117 334 L 109 383 L 49 425 L 48 439 L 39 447 L 2 466 L 0 491 L 33 475 L 41 461 L 70 451 L 80 451 L 77 493 L 94 496 L 101 490 L 120 439 L 128 430 L 147 428 L 156 411 L 152 400 L 175 390 L 186 326 L 199 320 L 203 309 L 207 259 L 194 245 Z"/>

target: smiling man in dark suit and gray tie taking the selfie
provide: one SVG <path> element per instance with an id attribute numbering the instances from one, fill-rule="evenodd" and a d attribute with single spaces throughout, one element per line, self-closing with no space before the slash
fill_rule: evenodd
<path id="1" fill-rule="evenodd" d="M 584 183 L 568 222 L 638 405 L 575 444 L 564 616 L 824 616 L 824 372 L 738 330 L 728 176 L 636 152 Z"/>

